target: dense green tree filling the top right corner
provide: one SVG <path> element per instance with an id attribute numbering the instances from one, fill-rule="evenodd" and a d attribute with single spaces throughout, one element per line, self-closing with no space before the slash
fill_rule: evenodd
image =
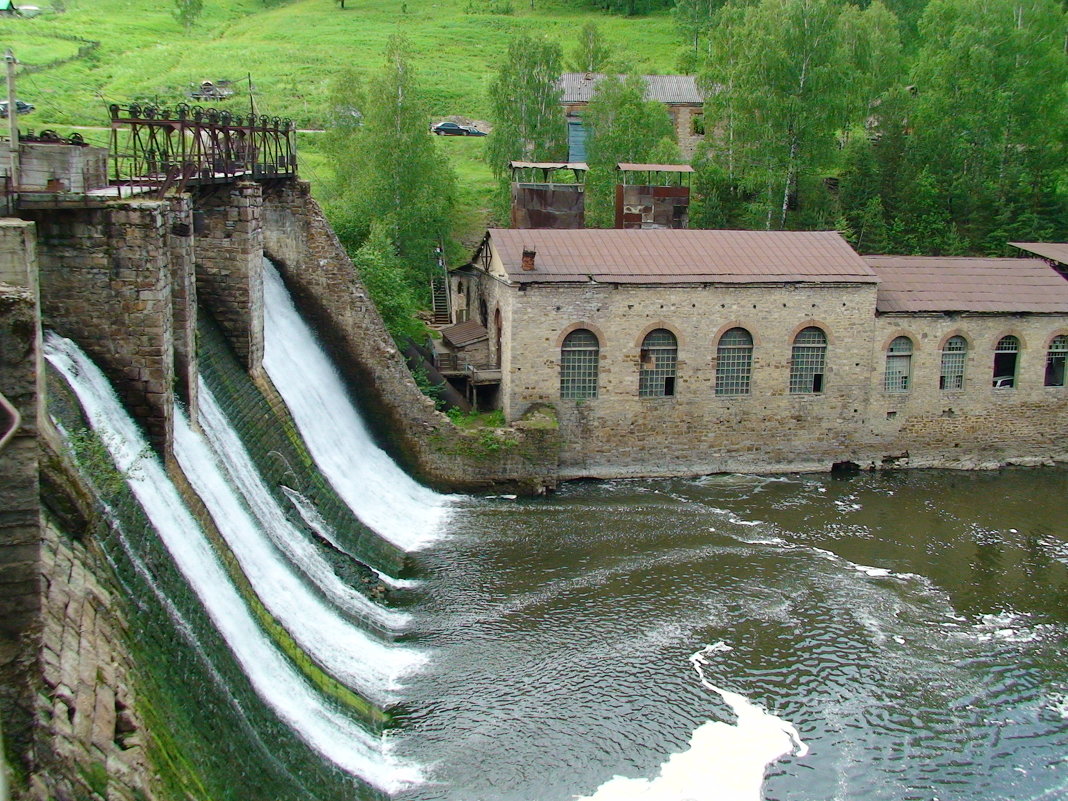
<path id="1" fill-rule="evenodd" d="M 1065 28 L 1055 0 L 931 0 L 921 19 L 909 157 L 972 249 L 995 230 L 1068 235 Z"/>

